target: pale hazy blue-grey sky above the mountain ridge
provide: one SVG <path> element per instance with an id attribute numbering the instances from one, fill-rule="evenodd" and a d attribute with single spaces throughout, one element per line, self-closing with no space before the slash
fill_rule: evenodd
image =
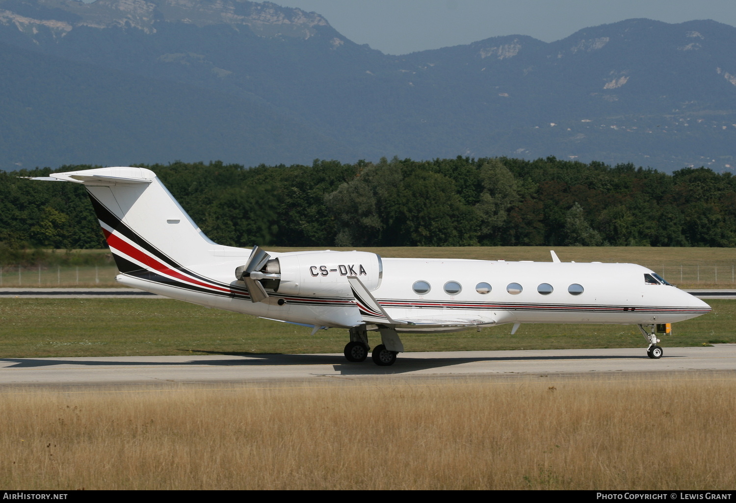
<path id="1" fill-rule="evenodd" d="M 323 15 L 355 43 L 386 54 L 457 46 L 498 35 L 552 42 L 630 18 L 713 19 L 736 26 L 735 0 L 274 0 Z"/>

